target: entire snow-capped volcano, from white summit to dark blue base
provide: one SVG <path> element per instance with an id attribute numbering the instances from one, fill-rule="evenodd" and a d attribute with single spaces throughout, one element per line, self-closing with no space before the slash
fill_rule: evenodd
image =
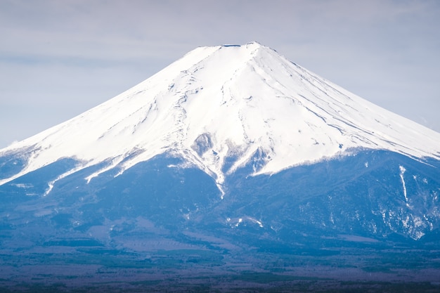
<path id="1" fill-rule="evenodd" d="M 1 284 L 433 281 L 439 193 L 439 133 L 259 43 L 195 48 L 0 150 Z"/>

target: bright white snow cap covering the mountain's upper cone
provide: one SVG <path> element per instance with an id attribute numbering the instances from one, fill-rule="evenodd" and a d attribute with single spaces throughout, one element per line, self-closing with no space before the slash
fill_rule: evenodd
<path id="1" fill-rule="evenodd" d="M 439 133 L 271 48 L 200 47 L 96 108 L 0 150 L 27 157 L 25 169 L 0 185 L 63 157 L 79 161 L 75 171 L 106 162 L 90 181 L 172 151 L 221 184 L 247 162 L 255 162 L 254 174 L 274 173 L 357 147 L 440 159 L 439 146 Z"/>

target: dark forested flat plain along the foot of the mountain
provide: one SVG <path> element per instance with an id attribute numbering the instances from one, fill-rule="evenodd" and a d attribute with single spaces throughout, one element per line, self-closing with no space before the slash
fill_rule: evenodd
<path id="1" fill-rule="evenodd" d="M 367 249 L 368 250 L 368 249 Z M 2 256 L 0 292 L 440 292 L 440 252 L 321 256 L 179 249 Z M 13 276 L 11 278 L 11 276 Z"/>

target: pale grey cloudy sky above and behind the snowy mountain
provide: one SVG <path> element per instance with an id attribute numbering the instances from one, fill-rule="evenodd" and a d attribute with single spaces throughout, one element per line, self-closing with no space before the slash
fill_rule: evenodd
<path id="1" fill-rule="evenodd" d="M 0 148 L 250 41 L 440 131 L 437 0 L 0 0 L 0 37 Z"/>

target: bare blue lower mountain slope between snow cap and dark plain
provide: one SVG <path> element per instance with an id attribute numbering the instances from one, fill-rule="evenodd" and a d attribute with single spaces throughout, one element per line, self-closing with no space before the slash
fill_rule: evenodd
<path id="1" fill-rule="evenodd" d="M 377 241 L 399 235 L 416 243 L 439 229 L 440 163 L 434 159 L 353 150 L 277 174 L 250 176 L 259 160 L 256 154 L 219 190 L 212 177 L 171 152 L 122 174 L 115 167 L 88 182 L 85 178 L 100 168 L 93 166 L 51 185 L 75 165 L 73 159 L 61 159 L 0 186 L 2 225 L 11 235 L 38 226 L 45 239 L 65 234 L 101 241 L 92 232 L 101 229 L 105 242 L 115 230 L 129 233 L 127 227 L 134 228 L 139 217 L 175 233 L 221 231 L 243 242 L 242 229 L 285 243 L 304 233 Z"/>

